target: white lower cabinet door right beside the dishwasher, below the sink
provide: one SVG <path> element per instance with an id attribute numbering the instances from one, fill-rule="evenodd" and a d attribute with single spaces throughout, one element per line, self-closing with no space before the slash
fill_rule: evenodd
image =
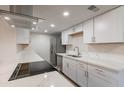
<path id="1" fill-rule="evenodd" d="M 67 60 L 67 58 L 65 58 L 65 57 L 63 57 L 63 62 L 62 62 L 62 72 L 65 74 L 65 75 L 67 75 L 67 76 L 69 76 L 69 63 L 68 63 L 68 60 Z"/>

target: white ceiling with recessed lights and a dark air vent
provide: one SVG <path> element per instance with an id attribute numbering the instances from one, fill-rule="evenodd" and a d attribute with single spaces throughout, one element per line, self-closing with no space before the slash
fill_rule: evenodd
<path id="1" fill-rule="evenodd" d="M 43 23 L 38 24 L 38 32 L 43 33 L 45 29 L 48 33 L 54 33 L 69 28 L 88 18 L 99 15 L 117 6 L 115 5 L 96 5 L 100 8 L 97 12 L 92 12 L 87 8 L 90 5 L 35 5 L 33 6 L 33 16 L 45 18 Z M 63 12 L 69 11 L 70 16 L 64 17 Z M 50 27 L 53 23 L 56 26 Z M 36 31 L 35 31 L 36 32 Z"/>

